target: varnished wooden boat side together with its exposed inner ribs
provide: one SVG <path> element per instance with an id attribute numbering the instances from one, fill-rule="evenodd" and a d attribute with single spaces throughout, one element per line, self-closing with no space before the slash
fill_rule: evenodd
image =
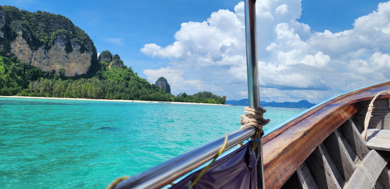
<path id="1" fill-rule="evenodd" d="M 359 133 L 363 130 L 363 116 L 369 101 L 385 90 L 390 90 L 390 81 L 340 95 L 266 135 L 263 138 L 266 188 L 351 185 L 348 181 L 356 165 L 370 152 Z M 376 118 L 369 127 L 390 129 L 389 104 L 385 100 L 389 97 L 378 97 L 374 106 L 378 106 L 379 114 L 373 113 Z M 385 106 L 387 110 L 382 110 Z M 390 189 L 389 178 L 384 175 L 379 177 L 378 186 Z"/>

